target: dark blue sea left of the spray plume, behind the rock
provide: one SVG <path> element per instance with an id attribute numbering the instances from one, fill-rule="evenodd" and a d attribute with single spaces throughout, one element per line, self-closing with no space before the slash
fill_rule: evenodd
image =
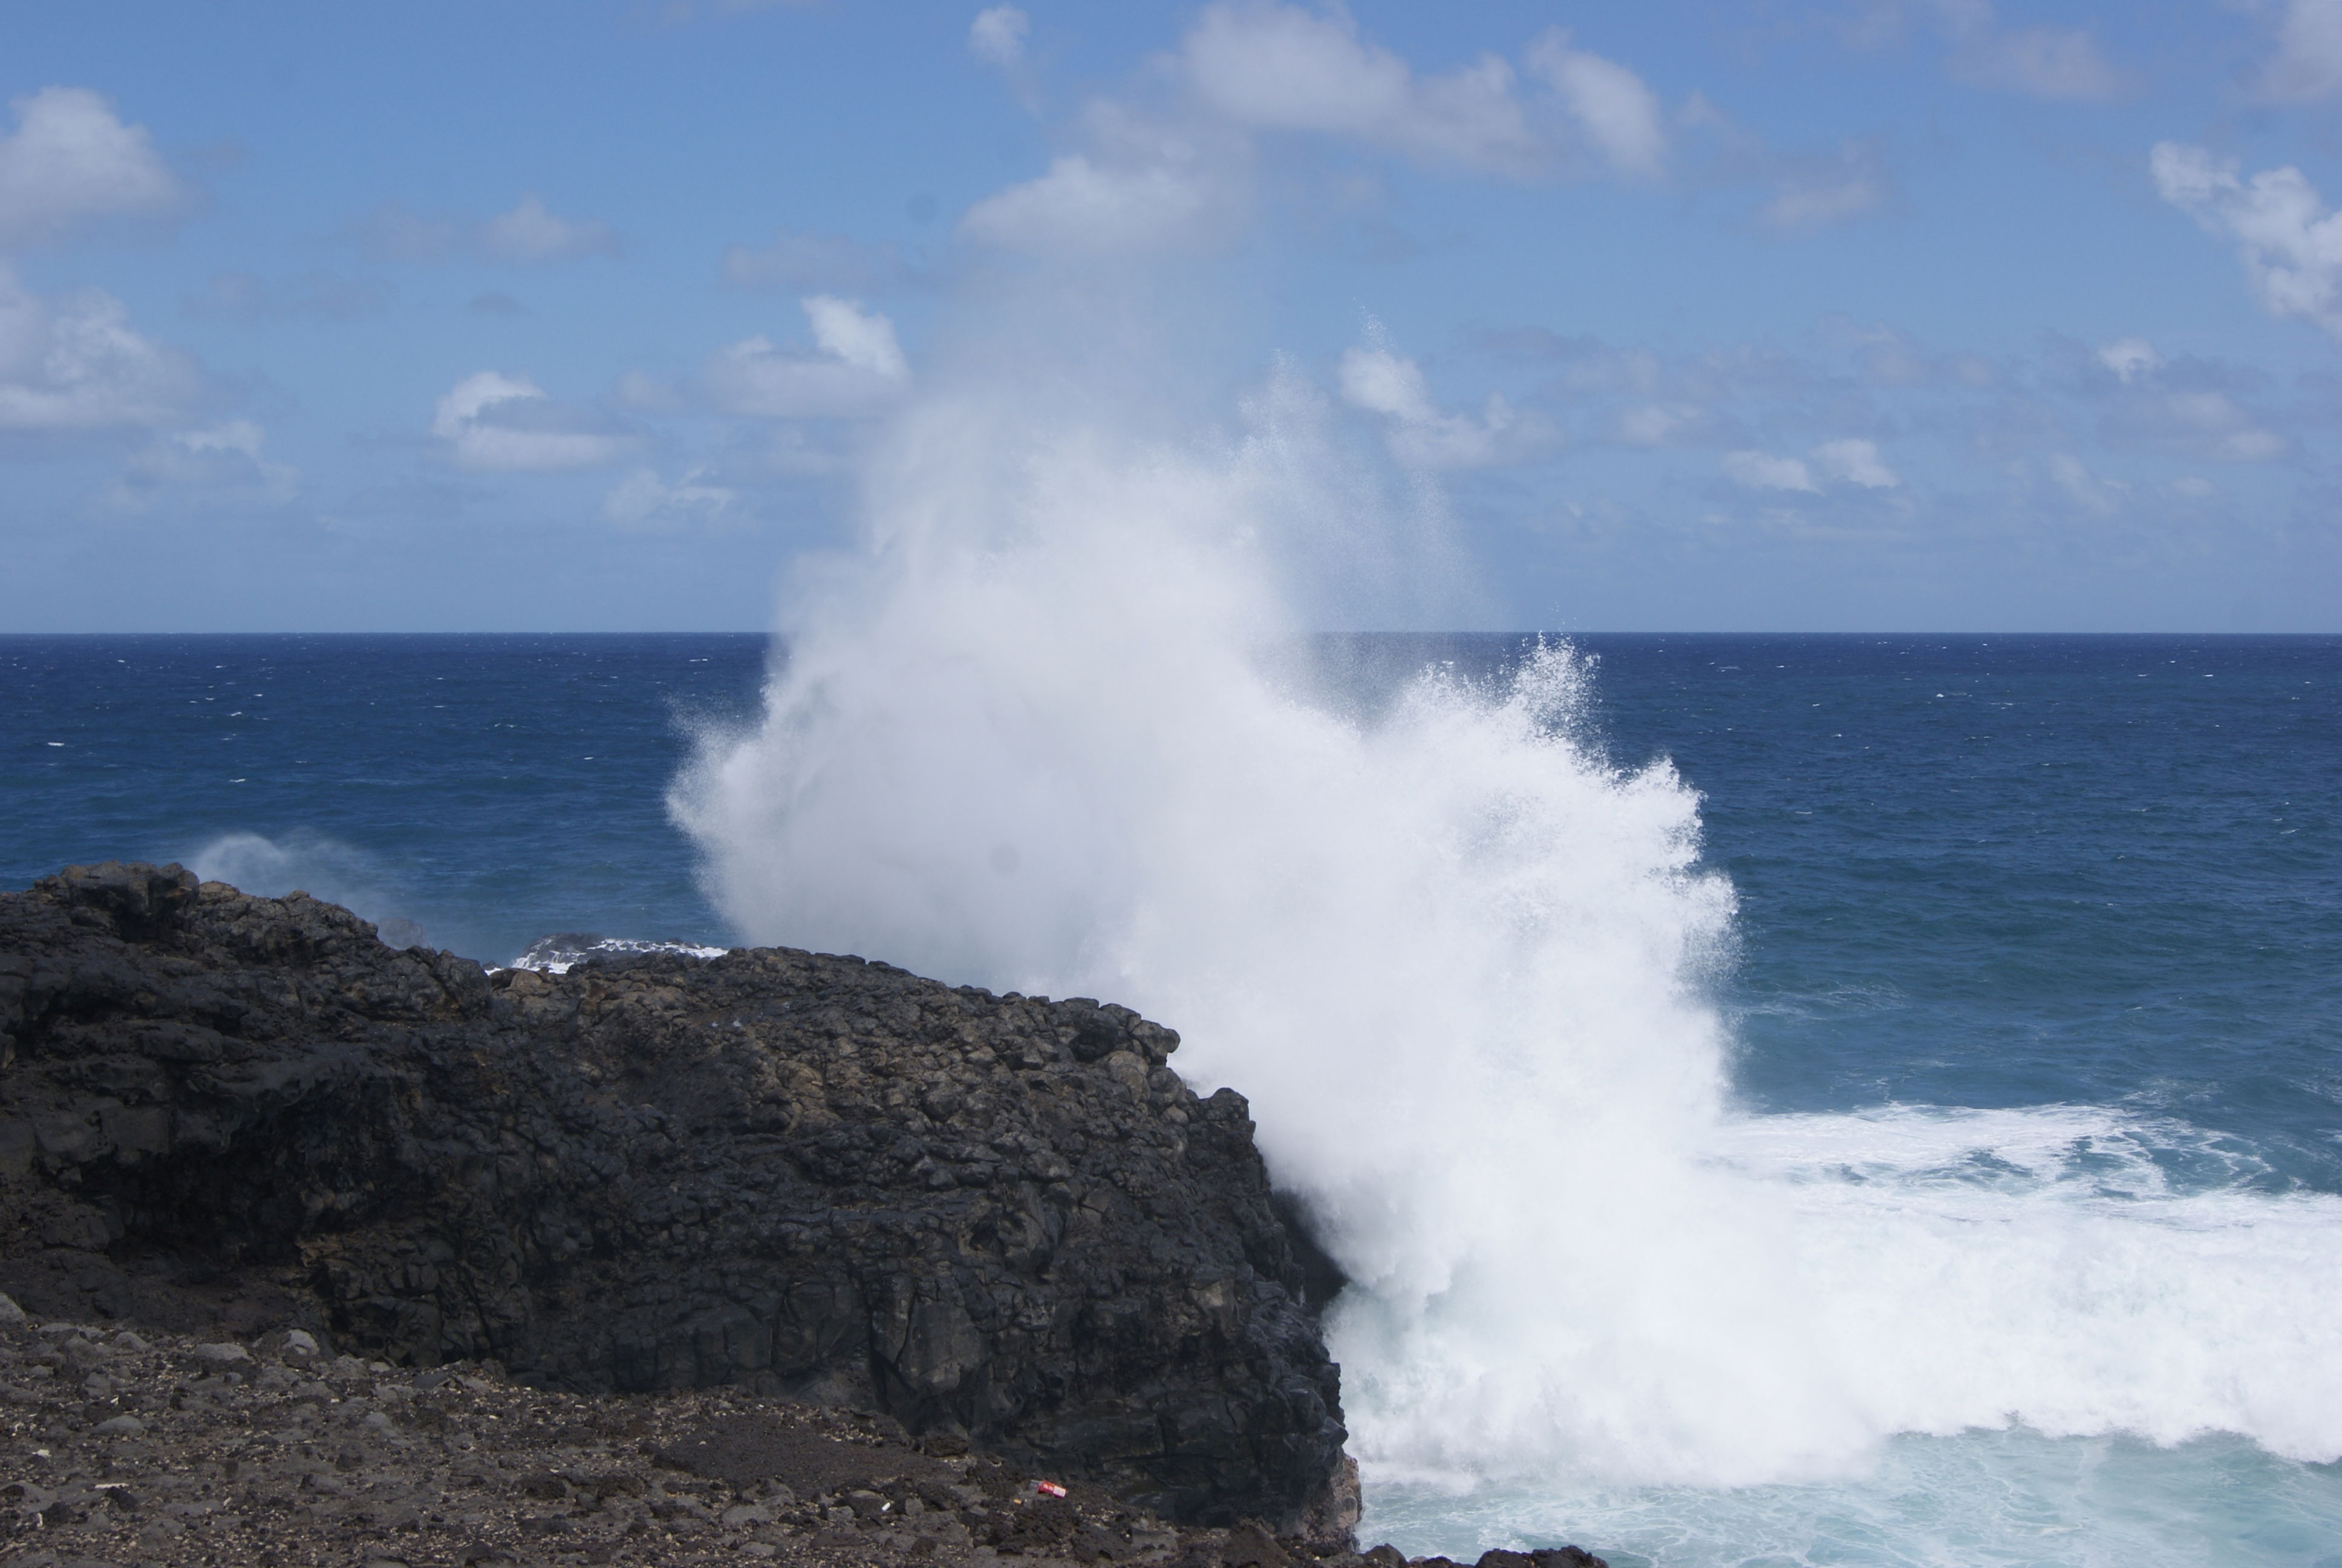
<path id="1" fill-rule="evenodd" d="M 0 638 L 0 879 L 183 860 L 504 963 L 553 930 L 721 940 L 663 792 L 754 635 Z M 230 874 L 234 872 L 234 874 Z"/>

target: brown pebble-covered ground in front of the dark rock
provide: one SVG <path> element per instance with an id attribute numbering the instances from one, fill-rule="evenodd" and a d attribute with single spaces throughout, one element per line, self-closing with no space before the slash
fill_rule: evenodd
<path id="1" fill-rule="evenodd" d="M 494 1364 L 361 1362 L 300 1329 L 239 1343 L 37 1322 L 7 1296 L 0 1430 L 0 1568 L 1408 1563 L 1251 1523 L 1176 1528 L 885 1416 L 738 1390 L 576 1397 Z"/>

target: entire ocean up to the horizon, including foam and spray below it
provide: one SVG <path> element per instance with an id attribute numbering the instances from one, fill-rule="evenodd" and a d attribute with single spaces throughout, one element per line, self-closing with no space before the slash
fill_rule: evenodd
<path id="1" fill-rule="evenodd" d="M 0 638 L 0 881 L 1131 1001 L 1408 1552 L 2342 1566 L 2342 638 L 1110 642 Z"/>

